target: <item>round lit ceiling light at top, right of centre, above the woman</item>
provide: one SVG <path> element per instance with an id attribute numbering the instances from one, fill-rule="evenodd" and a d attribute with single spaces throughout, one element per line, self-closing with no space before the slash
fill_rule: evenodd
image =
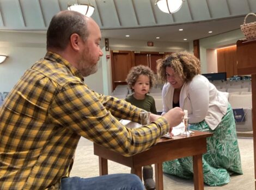
<path id="1" fill-rule="evenodd" d="M 161 11 L 171 14 L 178 11 L 182 3 L 182 0 L 156 0 L 155 5 L 157 5 Z"/>

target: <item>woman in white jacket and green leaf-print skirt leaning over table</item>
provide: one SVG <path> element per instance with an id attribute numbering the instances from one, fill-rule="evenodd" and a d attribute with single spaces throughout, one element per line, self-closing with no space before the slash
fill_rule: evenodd
<path id="1" fill-rule="evenodd" d="M 200 75 L 200 61 L 187 52 L 173 53 L 157 61 L 157 74 L 165 83 L 163 114 L 173 107 L 188 110 L 191 130 L 212 132 L 203 154 L 204 182 L 222 186 L 230 174 L 242 174 L 235 119 L 228 99 Z M 192 157 L 163 163 L 163 172 L 193 178 Z"/>

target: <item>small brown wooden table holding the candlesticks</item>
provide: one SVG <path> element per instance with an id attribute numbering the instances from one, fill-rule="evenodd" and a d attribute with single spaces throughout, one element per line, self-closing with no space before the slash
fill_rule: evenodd
<path id="1" fill-rule="evenodd" d="M 142 179 L 142 167 L 155 164 L 156 189 L 163 189 L 162 162 L 193 156 L 194 189 L 204 189 L 202 154 L 206 152 L 206 137 L 209 132 L 194 131 L 189 137 L 175 136 L 161 138 L 156 145 L 147 151 L 125 157 L 94 143 L 94 154 L 99 156 L 100 175 L 108 174 L 107 160 L 123 164 L 134 169 Z"/>

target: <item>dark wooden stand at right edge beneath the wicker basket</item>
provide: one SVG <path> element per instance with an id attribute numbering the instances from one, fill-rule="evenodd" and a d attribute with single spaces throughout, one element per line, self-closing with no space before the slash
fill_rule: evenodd
<path id="1" fill-rule="evenodd" d="M 236 42 L 237 74 L 252 75 L 252 125 L 254 148 L 254 178 L 256 177 L 256 40 Z M 255 181 L 255 180 L 254 180 Z M 256 181 L 255 181 L 256 188 Z"/>

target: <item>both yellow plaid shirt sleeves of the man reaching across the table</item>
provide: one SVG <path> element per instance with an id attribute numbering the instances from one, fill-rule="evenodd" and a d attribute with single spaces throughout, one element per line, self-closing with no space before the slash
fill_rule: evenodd
<path id="1" fill-rule="evenodd" d="M 112 97 L 103 97 L 103 101 L 100 101 L 93 91 L 79 83 L 63 87 L 49 111 L 56 126 L 69 128 L 76 134 L 125 156 L 150 148 L 169 130 L 164 117 L 138 129 L 126 128 L 112 112 L 116 117 L 124 118 L 127 115 L 126 119 L 133 120 L 132 117 L 136 117 L 138 121 L 141 109 Z"/>

